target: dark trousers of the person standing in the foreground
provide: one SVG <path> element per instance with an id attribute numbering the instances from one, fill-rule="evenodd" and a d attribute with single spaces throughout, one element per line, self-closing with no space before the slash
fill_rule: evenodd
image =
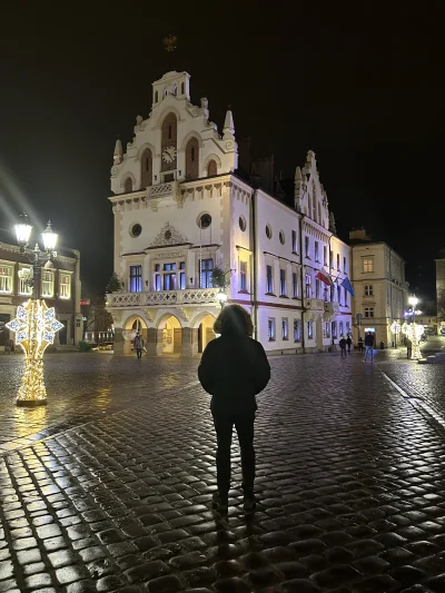
<path id="1" fill-rule="evenodd" d="M 214 424 L 218 448 L 216 452 L 216 470 L 218 492 L 227 496 L 230 490 L 230 446 L 231 432 L 235 426 L 241 449 L 243 484 L 245 494 L 254 494 L 255 449 L 254 423 L 255 413 L 227 414 L 214 412 Z"/>

